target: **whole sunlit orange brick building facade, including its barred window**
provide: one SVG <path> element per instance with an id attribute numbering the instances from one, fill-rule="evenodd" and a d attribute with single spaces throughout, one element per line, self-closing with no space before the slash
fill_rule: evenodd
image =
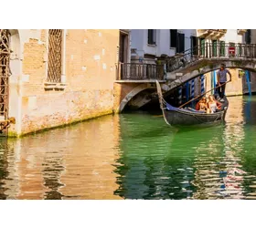
<path id="1" fill-rule="evenodd" d="M 112 113 L 119 29 L 1 29 L 1 36 L 0 57 L 5 45 L 10 67 L 1 67 L 1 78 L 9 77 L 1 108 L 6 111 L 0 118 L 16 119 L 2 135 L 19 136 Z"/>

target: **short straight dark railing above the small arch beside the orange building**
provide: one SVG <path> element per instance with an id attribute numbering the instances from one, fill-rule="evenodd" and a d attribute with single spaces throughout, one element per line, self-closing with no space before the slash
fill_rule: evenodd
<path id="1" fill-rule="evenodd" d="M 119 63 L 117 80 L 163 80 L 165 77 L 164 65 Z"/>

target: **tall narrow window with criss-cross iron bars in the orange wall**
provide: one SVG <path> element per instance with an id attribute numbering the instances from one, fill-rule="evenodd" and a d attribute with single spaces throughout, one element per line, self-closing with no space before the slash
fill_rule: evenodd
<path id="1" fill-rule="evenodd" d="M 48 82 L 61 82 L 62 29 L 48 30 Z"/>

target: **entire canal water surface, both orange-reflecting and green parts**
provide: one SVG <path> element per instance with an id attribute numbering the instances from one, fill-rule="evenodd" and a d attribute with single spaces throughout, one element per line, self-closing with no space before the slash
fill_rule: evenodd
<path id="1" fill-rule="evenodd" d="M 256 97 L 226 123 L 173 129 L 161 113 L 0 140 L 0 199 L 256 199 Z"/>

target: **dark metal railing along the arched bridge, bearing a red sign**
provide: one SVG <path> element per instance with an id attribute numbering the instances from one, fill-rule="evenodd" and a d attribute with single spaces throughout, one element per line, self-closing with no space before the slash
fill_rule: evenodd
<path id="1" fill-rule="evenodd" d="M 256 44 L 206 43 L 167 60 L 166 71 L 172 72 L 181 67 L 189 67 L 198 60 L 214 58 L 256 58 Z"/>

